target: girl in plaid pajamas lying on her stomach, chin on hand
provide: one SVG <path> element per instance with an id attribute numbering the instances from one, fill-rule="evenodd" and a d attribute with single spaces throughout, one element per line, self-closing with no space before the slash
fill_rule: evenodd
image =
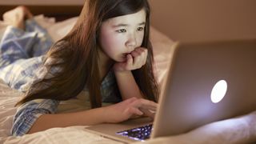
<path id="1" fill-rule="evenodd" d="M 13 14 L 18 17 L 14 22 L 8 14 L 4 18 L 13 24 L 0 47 L 0 78 L 25 93 L 17 104 L 13 135 L 141 115 L 154 118 L 158 88 L 147 0 L 86 0 L 74 28 L 46 55 L 50 37 L 26 8 L 18 10 L 22 13 Z M 25 23 L 17 20 L 26 18 Z M 89 91 L 92 109 L 55 114 L 60 101 L 84 90 Z"/>

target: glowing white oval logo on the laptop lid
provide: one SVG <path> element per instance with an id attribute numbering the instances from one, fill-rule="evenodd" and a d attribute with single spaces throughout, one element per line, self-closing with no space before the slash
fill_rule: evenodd
<path id="1" fill-rule="evenodd" d="M 224 98 L 227 90 L 227 83 L 225 80 L 218 81 L 213 90 L 211 90 L 210 98 L 211 102 L 218 103 Z"/>

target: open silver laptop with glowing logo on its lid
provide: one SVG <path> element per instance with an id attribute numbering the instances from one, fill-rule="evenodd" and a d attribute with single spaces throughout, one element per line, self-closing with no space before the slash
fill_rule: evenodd
<path id="1" fill-rule="evenodd" d="M 256 39 L 177 42 L 154 122 L 87 127 L 120 142 L 183 134 L 256 110 Z"/>

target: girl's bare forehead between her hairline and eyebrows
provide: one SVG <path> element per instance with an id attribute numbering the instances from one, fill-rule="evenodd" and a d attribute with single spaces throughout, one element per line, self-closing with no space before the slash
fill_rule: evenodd
<path id="1" fill-rule="evenodd" d="M 134 14 L 126 14 L 115 18 L 110 18 L 106 21 L 109 24 L 138 24 L 142 22 L 146 22 L 146 11 L 144 9 L 138 11 Z"/>

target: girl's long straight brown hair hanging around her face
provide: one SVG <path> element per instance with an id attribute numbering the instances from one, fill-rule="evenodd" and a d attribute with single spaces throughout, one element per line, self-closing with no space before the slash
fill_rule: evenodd
<path id="1" fill-rule="evenodd" d="M 68 100 L 76 97 L 85 86 L 90 93 L 92 108 L 102 106 L 101 79 L 98 70 L 98 32 L 102 22 L 139 10 L 146 11 L 146 27 L 142 46 L 148 49 L 147 62 L 133 70 L 134 78 L 145 98 L 158 99 L 158 86 L 153 74 L 153 50 L 150 43 L 150 6 L 147 0 L 86 0 L 78 21 L 70 33 L 59 40 L 46 54 L 44 62 L 49 70 L 58 68 L 50 78 L 33 82 L 19 104 L 33 99 Z"/>

